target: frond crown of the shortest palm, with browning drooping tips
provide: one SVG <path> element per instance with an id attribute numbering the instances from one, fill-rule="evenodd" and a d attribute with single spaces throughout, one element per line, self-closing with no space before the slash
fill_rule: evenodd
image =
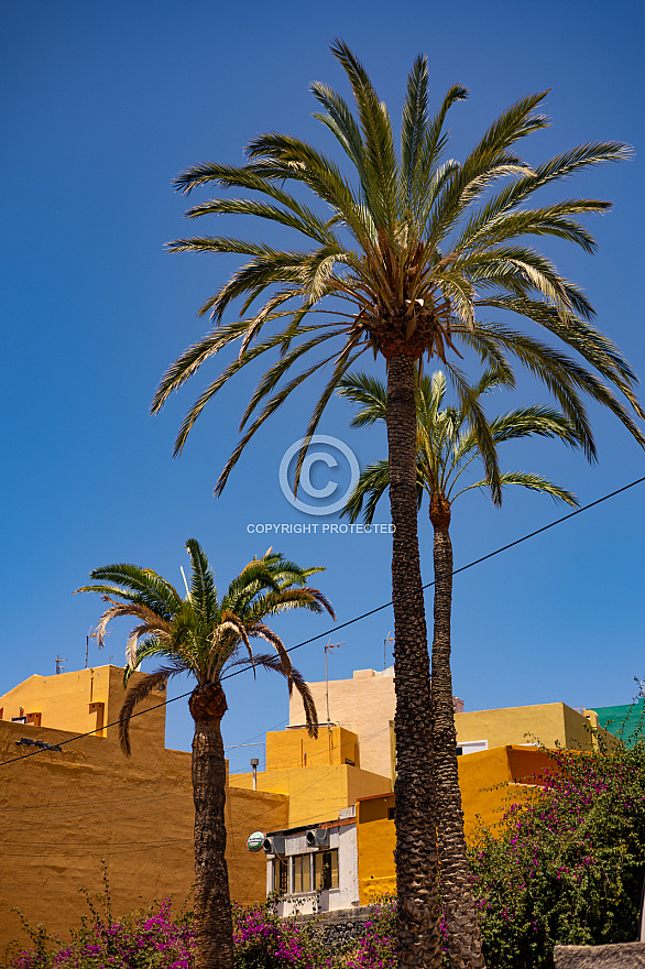
<path id="1" fill-rule="evenodd" d="M 289 694 L 295 686 L 303 697 L 307 725 L 316 732 L 316 708 L 309 688 L 294 668 L 281 638 L 264 620 L 289 609 L 329 612 L 331 605 L 319 589 L 306 585 L 321 568 L 300 568 L 271 549 L 254 558 L 218 599 L 215 577 L 199 543 L 186 543 L 192 564 L 190 589 L 182 597 L 156 573 L 136 565 L 107 565 L 90 573 L 95 585 L 79 592 L 100 592 L 110 605 L 98 624 L 98 644 L 103 643 L 112 619 L 133 617 L 138 624 L 128 639 L 124 682 L 147 658 L 163 665 L 125 696 L 120 722 L 121 742 L 130 751 L 129 717 L 145 696 L 161 683 L 190 673 L 198 686 L 219 683 L 228 667 L 263 667 L 281 673 Z M 267 642 L 274 653 L 253 652 L 251 641 Z"/>

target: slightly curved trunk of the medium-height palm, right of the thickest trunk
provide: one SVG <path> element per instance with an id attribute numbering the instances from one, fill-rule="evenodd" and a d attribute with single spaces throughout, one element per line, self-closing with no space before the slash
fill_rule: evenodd
<path id="1" fill-rule="evenodd" d="M 484 959 L 471 891 L 463 812 L 457 766 L 457 732 L 450 673 L 452 610 L 452 543 L 450 503 L 433 496 L 430 521 L 435 529 L 435 634 L 433 640 L 433 751 L 438 803 L 438 842 L 441 901 L 448 933 L 451 969 L 482 969 Z"/>

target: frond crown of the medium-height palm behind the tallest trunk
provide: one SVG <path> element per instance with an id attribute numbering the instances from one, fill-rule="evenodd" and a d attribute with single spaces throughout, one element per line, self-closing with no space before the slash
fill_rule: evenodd
<path id="1" fill-rule="evenodd" d="M 503 379 L 487 371 L 472 388 L 472 398 L 479 403 L 485 394 L 498 389 Z M 387 391 L 380 380 L 367 373 L 348 374 L 340 381 L 338 393 L 360 405 L 351 422 L 352 427 L 365 427 L 385 421 Z M 463 483 L 462 475 L 473 460 L 481 457 L 479 439 L 469 423 L 470 407 L 444 406 L 446 378 L 437 370 L 431 378 L 422 375 L 416 386 L 417 411 L 417 499 L 420 508 L 424 494 L 447 499 L 452 503 L 460 494 L 473 489 L 491 490 L 488 478 Z M 555 437 L 572 447 L 580 445 L 570 421 L 554 407 L 544 404 L 518 407 L 489 421 L 495 448 L 504 440 L 525 437 Z M 520 484 L 551 498 L 577 504 L 570 491 L 554 484 L 540 475 L 527 471 L 504 471 L 499 477 L 502 487 Z M 389 461 L 375 461 L 362 471 L 343 514 L 354 522 L 362 513 L 365 522 L 373 521 L 376 504 L 390 486 Z M 493 492 L 495 498 L 495 492 Z"/>

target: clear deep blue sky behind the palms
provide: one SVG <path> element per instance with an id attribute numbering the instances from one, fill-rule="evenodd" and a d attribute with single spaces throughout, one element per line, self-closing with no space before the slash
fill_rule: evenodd
<path id="1" fill-rule="evenodd" d="M 456 13 L 458 10 L 458 13 Z M 186 235 L 185 200 L 173 177 L 208 159 L 239 163 L 266 130 L 327 145 L 308 84 L 343 88 L 328 51 L 342 36 L 365 63 L 393 116 L 414 56 L 429 57 L 433 97 L 452 84 L 470 99 L 452 111 L 451 154 L 517 98 L 549 89 L 553 127 L 525 146 L 529 162 L 583 141 L 633 144 L 634 161 L 586 173 L 559 194 L 609 198 L 589 219 L 594 257 L 548 243 L 544 250 L 580 283 L 601 329 L 645 373 L 642 335 L 643 85 L 642 6 L 545 2 L 539 8 L 402 0 L 278 7 L 193 2 L 4 4 L 0 34 L 3 132 L 1 292 L 7 370 L 0 693 L 32 673 L 51 674 L 59 653 L 85 663 L 98 597 L 72 597 L 91 568 L 135 562 L 181 583 L 184 543 L 197 537 L 220 585 L 269 544 L 303 565 L 325 565 L 320 587 L 340 622 L 390 598 L 387 535 L 250 534 L 256 522 L 308 521 L 283 497 L 278 466 L 305 427 L 311 390 L 258 435 L 223 497 L 212 487 L 237 442 L 237 418 L 259 371 L 236 381 L 200 418 L 181 460 L 179 422 L 215 363 L 157 417 L 155 386 L 173 359 L 204 331 L 195 313 L 233 268 L 164 242 Z M 195 229 L 195 224 L 192 225 Z M 234 220 L 199 232 L 239 233 Z M 251 231 L 251 227 L 249 227 Z M 256 230 L 253 230 L 256 231 Z M 275 230 L 263 238 L 275 240 Z M 543 400 L 520 381 L 516 402 Z M 500 399 L 503 409 L 510 401 Z M 556 444 L 509 447 L 507 468 L 536 470 L 582 503 L 641 477 L 638 446 L 591 409 L 600 459 L 588 465 Z M 382 431 L 348 428 L 347 404 L 332 402 L 320 432 L 346 442 L 364 465 L 384 454 Z M 564 700 L 572 706 L 628 701 L 643 663 L 643 487 L 604 503 L 456 579 L 455 690 L 466 709 Z M 456 565 L 462 565 L 562 512 L 547 498 L 512 493 L 495 511 L 480 496 L 455 508 Z M 387 507 L 379 515 L 387 522 Z M 331 518 L 328 523 L 337 523 Z M 422 513 L 424 578 L 431 534 Z M 429 601 L 429 600 L 428 600 Z M 278 623 L 287 644 L 327 630 L 308 614 Z M 330 675 L 383 663 L 390 610 L 342 630 Z M 127 627 L 90 665 L 122 662 Z M 297 664 L 324 676 L 325 636 Z M 175 693 L 186 689 L 177 683 Z M 225 738 L 259 739 L 285 721 L 286 689 L 247 674 L 229 685 Z M 184 701 L 168 708 L 168 745 L 187 748 Z M 231 769 L 252 752 L 231 750 Z"/>

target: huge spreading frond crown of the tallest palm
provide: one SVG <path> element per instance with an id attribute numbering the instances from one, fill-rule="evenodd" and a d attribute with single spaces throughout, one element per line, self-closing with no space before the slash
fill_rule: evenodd
<path id="1" fill-rule="evenodd" d="M 331 52 L 352 98 L 346 100 L 319 81 L 310 90 L 319 109 L 315 118 L 341 146 L 341 162 L 302 139 L 271 132 L 251 141 L 245 164 L 205 162 L 175 181 L 185 195 L 206 186 L 236 190 L 236 197 L 194 205 L 187 213 L 190 219 L 253 216 L 278 222 L 297 232 L 300 243 L 303 237 L 310 243 L 308 249 L 281 250 L 234 237 L 203 236 L 170 244 L 172 251 L 240 257 L 231 279 L 200 308 L 218 328 L 170 368 L 153 401 L 156 412 L 211 357 L 239 341 L 237 359 L 184 418 L 175 455 L 220 388 L 261 355 L 277 350 L 280 359 L 271 359 L 242 416 L 240 440 L 216 486 L 219 494 L 254 434 L 293 391 L 330 367 L 304 434 L 308 442 L 334 392 L 345 392 L 353 355 L 371 349 L 387 356 L 392 344 L 398 346 L 398 336 L 389 342 L 393 331 L 401 331 L 411 346 L 408 356 L 439 357 L 457 389 L 458 406 L 469 403 L 495 500 L 501 492 L 494 442 L 479 404 L 481 390 L 471 386 L 458 366 L 457 341 L 474 350 L 485 368 L 504 373 L 507 385 L 517 364 L 542 380 L 589 458 L 594 458 L 595 446 L 586 398 L 610 410 L 645 446 L 635 420 L 645 412 L 636 399 L 632 368 L 591 326 L 588 296 L 536 248 L 553 237 L 594 251 L 584 220 L 605 211 L 609 203 L 565 197 L 536 204 L 534 195 L 586 168 L 628 157 L 628 146 L 599 141 L 531 164 L 520 148 L 549 123 L 540 111 L 545 92 L 537 92 L 503 111 L 462 161 L 448 159 L 447 116 L 468 91 L 451 87 L 431 115 L 427 62 L 419 55 L 407 77 L 397 152 L 390 116 L 364 66 L 341 40 L 334 41 Z M 238 303 L 240 318 L 220 328 L 225 314 Z M 322 311 L 324 304 L 329 308 Z M 252 308 L 258 305 L 260 309 Z M 496 309 L 532 327 L 537 324 L 547 339 L 565 342 L 573 356 L 517 328 L 490 323 L 485 314 Z M 329 316 L 314 315 L 320 312 Z M 329 353 L 309 363 L 324 342 Z M 296 363 L 303 368 L 297 373 Z M 367 384 L 364 392 L 369 396 Z M 378 420 L 368 414 L 365 398 L 354 426 Z M 305 449 L 306 444 L 298 468 Z M 436 476 L 436 468 L 430 471 Z"/>

